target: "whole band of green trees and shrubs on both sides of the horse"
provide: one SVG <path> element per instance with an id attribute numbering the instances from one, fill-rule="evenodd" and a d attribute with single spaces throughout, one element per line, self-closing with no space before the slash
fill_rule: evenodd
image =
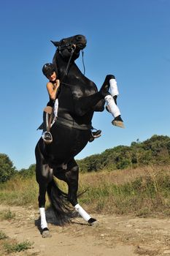
<path id="1" fill-rule="evenodd" d="M 116 146 L 109 148 L 101 154 L 77 160 L 80 172 L 99 170 L 117 170 L 128 167 L 142 167 L 144 165 L 170 164 L 170 138 L 169 136 L 153 135 L 150 139 L 132 142 L 131 146 Z M 16 170 L 12 161 L 6 154 L 0 154 L 0 183 L 8 181 L 15 175 L 24 178 L 33 176 L 35 164 L 28 169 Z"/>

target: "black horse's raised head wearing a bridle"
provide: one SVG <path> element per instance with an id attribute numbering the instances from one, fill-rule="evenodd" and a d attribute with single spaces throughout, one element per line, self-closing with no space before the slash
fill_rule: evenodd
<path id="1" fill-rule="evenodd" d="M 85 48 L 86 43 L 87 40 L 85 36 L 83 36 L 82 34 L 77 34 L 74 37 L 67 37 L 61 39 L 61 41 L 53 42 L 53 45 L 58 48 L 57 51 L 64 59 L 68 59 L 73 51 L 73 59 L 77 59 L 80 55 L 80 50 Z"/>

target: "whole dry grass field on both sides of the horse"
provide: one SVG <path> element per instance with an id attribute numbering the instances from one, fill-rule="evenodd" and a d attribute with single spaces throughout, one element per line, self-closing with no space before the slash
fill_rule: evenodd
<path id="1" fill-rule="evenodd" d="M 91 213 L 133 214 L 147 217 L 170 214 L 170 166 L 80 173 L 79 200 Z M 65 192 L 66 184 L 58 181 Z M 38 208 L 35 177 L 15 177 L 0 185 L 1 203 Z"/>

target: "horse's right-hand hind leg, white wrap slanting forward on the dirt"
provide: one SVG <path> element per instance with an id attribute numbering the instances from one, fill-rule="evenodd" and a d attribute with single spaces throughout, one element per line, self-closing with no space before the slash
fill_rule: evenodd
<path id="1" fill-rule="evenodd" d="M 66 172 L 66 181 L 69 187 L 68 200 L 72 203 L 75 210 L 80 214 L 80 216 L 88 222 L 88 224 L 93 225 L 96 223 L 96 219 L 90 217 L 90 215 L 80 206 L 77 201 L 77 190 L 78 190 L 78 180 L 79 180 L 79 167 L 74 159 L 68 164 L 68 170 Z"/>

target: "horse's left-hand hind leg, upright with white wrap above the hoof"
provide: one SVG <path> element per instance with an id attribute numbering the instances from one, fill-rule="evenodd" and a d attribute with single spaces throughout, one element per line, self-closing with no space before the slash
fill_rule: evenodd
<path id="1" fill-rule="evenodd" d="M 53 179 L 53 170 L 44 163 L 45 159 L 40 152 L 36 151 L 36 181 L 39 184 L 39 212 L 41 217 L 42 237 L 50 237 L 45 217 L 45 194 L 47 185 Z"/>

